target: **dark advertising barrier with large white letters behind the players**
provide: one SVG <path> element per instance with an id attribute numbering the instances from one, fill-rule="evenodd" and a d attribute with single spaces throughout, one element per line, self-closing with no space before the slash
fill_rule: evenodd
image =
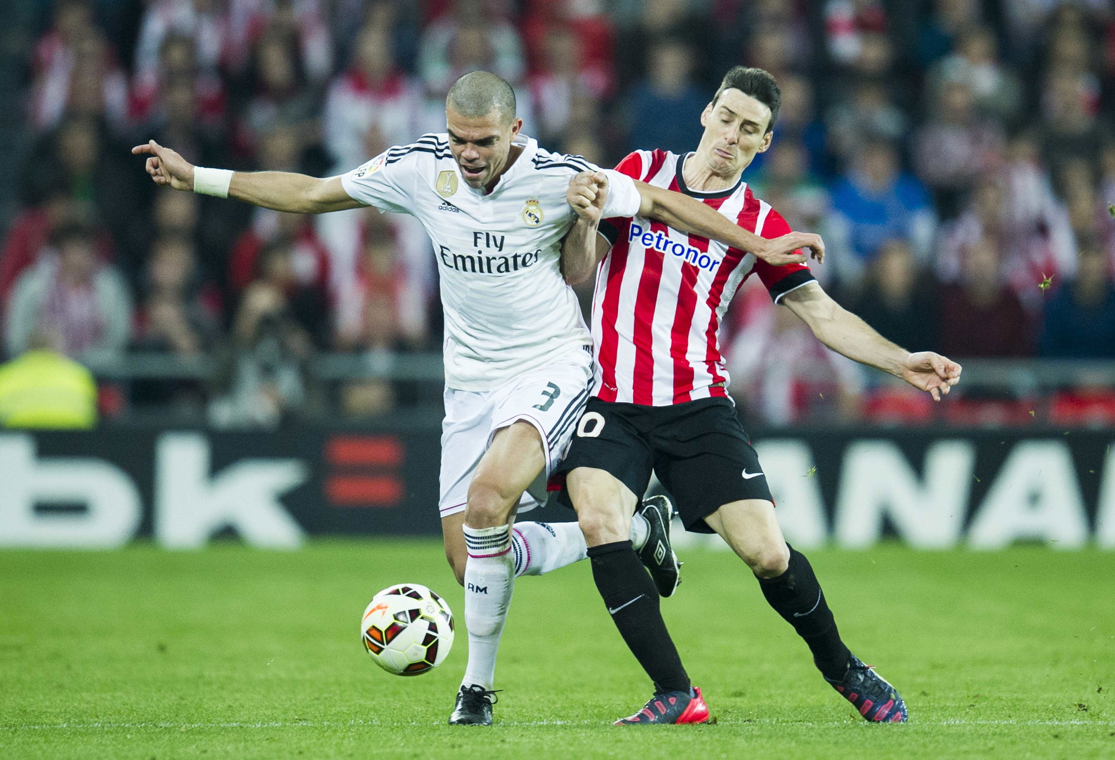
<path id="1" fill-rule="evenodd" d="M 436 534 L 438 430 L 105 428 L 0 433 L 0 546 L 197 548 L 234 535 Z M 1115 548 L 1113 433 L 782 430 L 755 436 L 787 539 Z M 536 513 L 572 519 L 556 505 Z M 532 515 L 533 517 L 533 515 Z M 690 539 L 690 543 L 701 540 Z M 683 542 L 682 542 L 683 543 Z"/>

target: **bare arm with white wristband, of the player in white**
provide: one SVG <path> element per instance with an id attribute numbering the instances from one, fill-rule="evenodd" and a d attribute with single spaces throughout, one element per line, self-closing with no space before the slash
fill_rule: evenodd
<path id="1" fill-rule="evenodd" d="M 207 192 L 207 187 L 198 186 L 198 169 L 219 172 L 196 167 L 171 148 L 163 147 L 155 140 L 132 148 L 135 155 L 147 154 L 147 174 L 156 185 L 169 186 L 174 189 Z M 236 198 L 255 206 L 274 208 L 275 211 L 293 212 L 295 214 L 321 214 L 329 211 L 358 208 L 362 206 L 353 199 L 341 186 L 340 177 L 324 179 L 290 172 L 232 172 L 227 192 L 211 195 Z M 203 177 L 204 179 L 204 177 Z"/>

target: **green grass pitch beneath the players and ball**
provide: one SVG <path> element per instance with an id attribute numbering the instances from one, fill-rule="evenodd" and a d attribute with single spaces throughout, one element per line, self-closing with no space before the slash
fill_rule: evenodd
<path id="1" fill-rule="evenodd" d="M 691 550 L 667 622 L 715 725 L 613 728 L 649 696 L 585 563 L 516 584 L 491 729 L 436 671 L 376 668 L 371 594 L 462 594 L 432 540 L 270 553 L 0 552 L 0 758 L 1115 758 L 1115 555 L 816 550 L 845 640 L 911 720 L 870 725 L 733 555 Z"/>

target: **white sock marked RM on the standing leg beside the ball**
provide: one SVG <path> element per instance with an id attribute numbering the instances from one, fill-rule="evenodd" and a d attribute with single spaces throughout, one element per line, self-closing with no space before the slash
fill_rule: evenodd
<path id="1" fill-rule="evenodd" d="M 495 685 L 495 655 L 507 620 L 515 567 L 506 525 L 494 528 L 464 526 L 468 561 L 465 563 L 465 627 L 468 665 L 462 685 Z"/>

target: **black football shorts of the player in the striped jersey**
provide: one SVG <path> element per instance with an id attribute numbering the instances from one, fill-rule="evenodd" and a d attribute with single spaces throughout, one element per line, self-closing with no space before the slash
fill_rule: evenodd
<path id="1" fill-rule="evenodd" d="M 725 398 L 669 407 L 589 399 L 561 476 L 578 467 L 610 472 L 642 498 L 653 471 L 687 530 L 711 533 L 705 517 L 740 499 L 773 501 L 736 407 Z M 570 505 L 562 488 L 559 501 Z"/>

